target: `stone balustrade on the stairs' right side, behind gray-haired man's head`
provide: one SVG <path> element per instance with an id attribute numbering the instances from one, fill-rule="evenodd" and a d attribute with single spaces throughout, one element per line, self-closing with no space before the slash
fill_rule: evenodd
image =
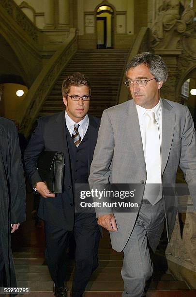
<path id="1" fill-rule="evenodd" d="M 136 37 L 136 40 L 134 42 L 134 45 L 131 49 L 128 61 L 131 60 L 132 57 L 134 57 L 136 54 L 142 52 L 142 51 L 148 51 L 150 48 L 149 41 L 149 30 L 146 27 L 142 27 L 139 31 L 139 34 Z M 123 71 L 123 76 L 121 77 L 121 85 L 119 89 L 119 96 L 118 96 L 118 104 L 125 102 L 129 98 L 129 89 L 124 86 L 124 81 L 126 80 L 126 71 Z"/>

